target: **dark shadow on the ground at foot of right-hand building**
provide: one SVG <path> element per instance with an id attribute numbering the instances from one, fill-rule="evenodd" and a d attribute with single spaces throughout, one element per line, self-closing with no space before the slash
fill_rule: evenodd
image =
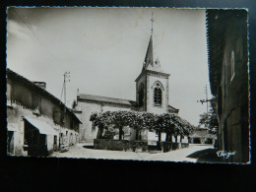
<path id="1" fill-rule="evenodd" d="M 217 149 L 207 149 L 190 154 L 186 158 L 197 159 L 197 162 L 224 162 L 217 156 Z"/>

